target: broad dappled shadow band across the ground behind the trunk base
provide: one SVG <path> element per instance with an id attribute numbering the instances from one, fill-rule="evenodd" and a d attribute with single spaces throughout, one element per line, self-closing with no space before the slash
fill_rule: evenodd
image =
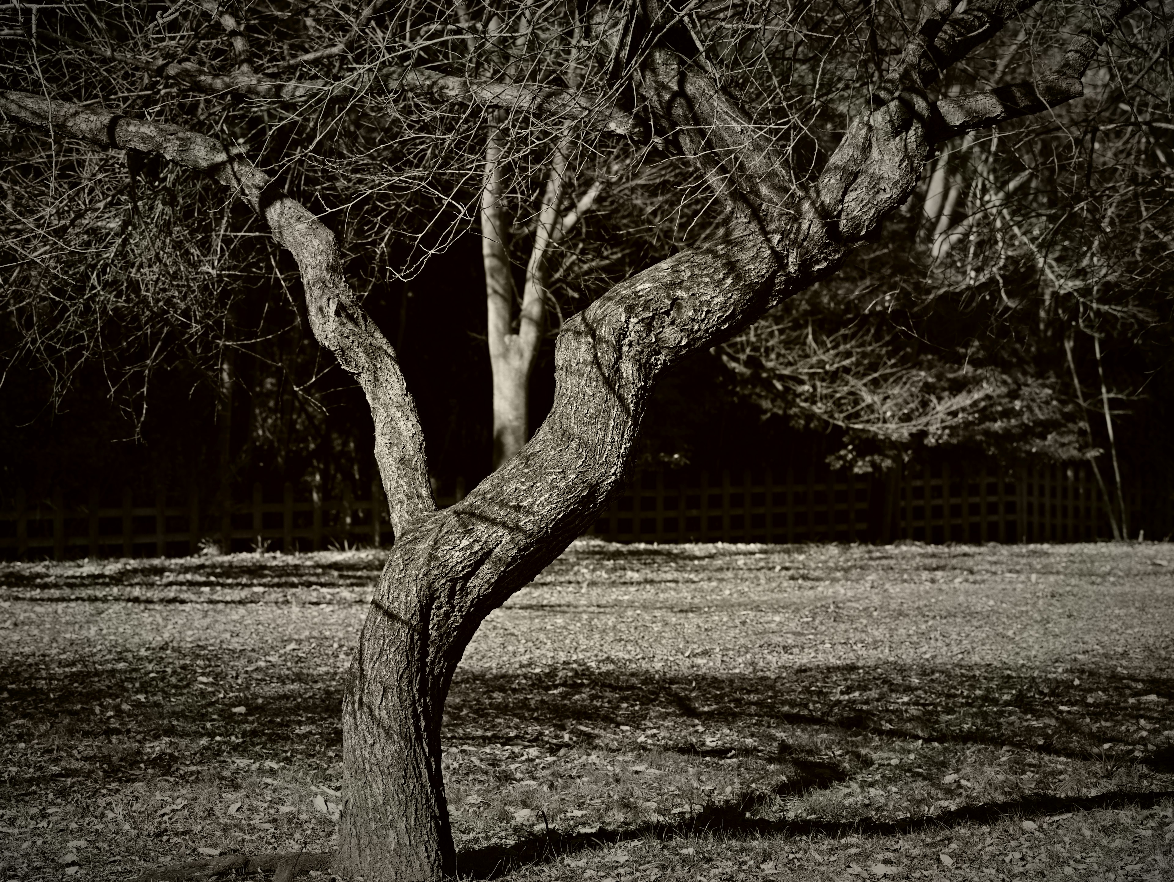
<path id="1" fill-rule="evenodd" d="M 194 742 L 238 755 L 318 758 L 340 746 L 342 672 L 290 665 L 264 678 L 232 669 L 223 658 L 104 660 L 54 667 L 8 665 L 0 714 L 14 738 L 49 730 L 88 742 L 107 780 L 151 770 L 175 774 L 190 765 Z M 778 676 L 697 676 L 684 680 L 639 671 L 559 669 L 526 674 L 458 672 L 446 709 L 451 745 L 518 745 L 558 752 L 568 743 L 656 748 L 707 759 L 770 759 L 780 726 L 866 733 L 888 739 L 1013 746 L 1074 759 L 1104 759 L 1106 742 L 1122 758 L 1155 772 L 1174 770 L 1174 752 L 1147 733 L 1174 728 L 1167 700 L 1174 681 L 1124 680 L 1097 671 L 1062 679 L 981 667 L 823 667 Z M 201 679 L 215 684 L 208 687 Z M 1073 685 L 1079 679 L 1080 685 Z M 232 707 L 244 713 L 232 713 Z M 627 726 L 628 730 L 619 727 Z M 723 727 L 740 736 L 710 743 Z M 22 728 L 23 727 L 23 728 Z M 636 742 L 641 729 L 660 734 Z M 161 745 L 164 739 L 171 742 Z M 153 747 L 148 752 L 146 743 Z M 183 745 L 188 746 L 184 747 Z M 802 759 L 802 758 L 799 758 Z M 69 776 L 62 768 L 54 773 Z M 814 773 L 812 773 L 814 775 Z M 809 775 L 811 776 L 811 775 Z M 824 779 L 835 773 L 824 770 Z M 817 777 L 817 775 L 816 775 Z M 9 786 L 35 787 L 29 777 Z"/>

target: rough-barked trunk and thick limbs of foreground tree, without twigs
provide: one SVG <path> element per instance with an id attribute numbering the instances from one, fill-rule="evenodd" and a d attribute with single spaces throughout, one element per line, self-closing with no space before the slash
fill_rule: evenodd
<path id="1" fill-rule="evenodd" d="M 730 208 L 730 231 L 616 285 L 568 321 L 555 348 L 549 417 L 515 456 L 440 512 L 432 511 L 423 440 L 394 356 L 345 288 L 332 238 L 312 215 L 270 193 L 264 175 L 210 139 L 0 94 L 0 110 L 31 124 L 161 153 L 241 188 L 297 256 L 316 335 L 367 393 L 397 541 L 346 679 L 338 873 L 391 882 L 439 880 L 454 869 L 440 767 L 440 720 L 453 672 L 485 617 L 581 533 L 622 479 L 657 377 L 835 271 L 909 197 L 936 139 L 1079 94 L 1068 81 L 1079 83 L 1113 23 L 1132 8 L 1125 0 L 1091 8 L 1072 48 L 1047 74 L 1055 79 L 1038 80 L 1031 94 L 1012 87 L 937 106 L 927 100 L 926 88 L 944 69 L 1030 5 L 976 0 L 957 15 L 952 0 L 930 8 L 879 106 L 850 123 L 819 180 L 801 196 L 781 188 L 769 144 L 748 130 L 736 103 L 688 52 L 653 49 L 646 96 L 709 173 Z M 655 9 L 649 14 L 655 23 Z M 526 326 L 524 316 L 519 332 Z"/>

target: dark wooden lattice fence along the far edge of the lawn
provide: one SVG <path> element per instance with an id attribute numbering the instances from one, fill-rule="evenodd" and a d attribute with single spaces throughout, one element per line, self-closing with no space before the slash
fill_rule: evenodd
<path id="1" fill-rule="evenodd" d="M 441 505 L 464 497 L 463 479 L 446 486 Z M 1089 470 L 1079 465 L 1014 472 L 906 469 L 889 483 L 810 470 L 645 470 L 614 496 L 588 533 L 647 543 L 1017 543 L 1112 536 L 1105 500 Z M 194 554 L 209 544 L 294 552 L 392 540 L 377 482 L 363 497 L 344 492 L 337 499 L 312 491 L 298 498 L 290 484 L 279 498 L 266 497 L 258 484 L 230 506 L 204 504 L 195 491 L 144 500 L 127 489 L 121 504 L 96 491 L 83 501 L 67 500 L 60 491 L 29 500 L 18 491 L 0 507 L 0 556 L 7 558 L 163 557 Z"/>

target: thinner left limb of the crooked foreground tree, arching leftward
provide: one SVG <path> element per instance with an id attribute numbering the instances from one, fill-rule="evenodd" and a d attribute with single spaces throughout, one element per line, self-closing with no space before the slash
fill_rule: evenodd
<path id="1" fill-rule="evenodd" d="M 0 92 L 0 113 L 97 147 L 160 154 L 207 171 L 262 214 L 298 263 L 315 337 L 356 375 L 366 393 L 376 426 L 376 460 L 397 536 L 409 521 L 434 510 L 416 403 L 394 350 L 346 284 L 335 236 L 322 221 L 207 135 L 25 92 Z"/>

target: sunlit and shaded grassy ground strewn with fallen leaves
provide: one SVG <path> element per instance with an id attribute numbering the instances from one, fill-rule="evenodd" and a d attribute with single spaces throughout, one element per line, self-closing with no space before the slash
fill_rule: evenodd
<path id="1" fill-rule="evenodd" d="M 0 565 L 0 882 L 331 848 L 375 552 Z M 1174 547 L 576 543 L 445 719 L 463 876 L 1172 880 Z"/>

